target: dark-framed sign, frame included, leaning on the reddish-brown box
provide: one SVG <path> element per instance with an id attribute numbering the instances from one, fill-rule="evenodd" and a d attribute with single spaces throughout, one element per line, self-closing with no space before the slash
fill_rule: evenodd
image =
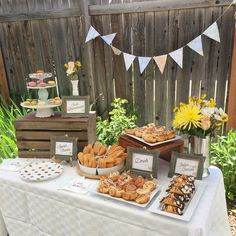
<path id="1" fill-rule="evenodd" d="M 131 173 L 157 178 L 159 152 L 144 148 L 128 147 L 126 166 Z"/>

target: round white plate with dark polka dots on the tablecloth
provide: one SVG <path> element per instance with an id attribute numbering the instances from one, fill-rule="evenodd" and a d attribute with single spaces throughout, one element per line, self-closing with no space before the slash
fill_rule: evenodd
<path id="1" fill-rule="evenodd" d="M 62 165 L 53 161 L 41 161 L 27 165 L 20 170 L 20 176 L 27 181 L 45 181 L 61 175 Z"/>

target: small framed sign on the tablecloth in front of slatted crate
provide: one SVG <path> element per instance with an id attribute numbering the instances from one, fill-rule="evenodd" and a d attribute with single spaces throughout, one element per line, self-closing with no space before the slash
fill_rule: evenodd
<path id="1" fill-rule="evenodd" d="M 51 137 L 51 157 L 58 162 L 70 161 L 76 159 L 77 154 L 77 138 L 60 136 Z"/>

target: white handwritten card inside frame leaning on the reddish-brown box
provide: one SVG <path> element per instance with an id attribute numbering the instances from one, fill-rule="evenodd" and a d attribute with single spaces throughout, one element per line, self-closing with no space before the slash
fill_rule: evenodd
<path id="1" fill-rule="evenodd" d="M 132 168 L 137 170 L 152 171 L 153 156 L 133 153 Z"/>

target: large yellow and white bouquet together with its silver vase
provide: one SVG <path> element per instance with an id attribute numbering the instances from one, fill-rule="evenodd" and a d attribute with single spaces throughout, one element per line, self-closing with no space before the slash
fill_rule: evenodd
<path id="1" fill-rule="evenodd" d="M 189 152 L 205 156 L 204 173 L 206 177 L 210 165 L 209 147 L 211 138 L 220 130 L 228 115 L 218 108 L 213 98 L 189 97 L 189 103 L 180 103 L 174 108 L 173 127 L 189 140 Z"/>

